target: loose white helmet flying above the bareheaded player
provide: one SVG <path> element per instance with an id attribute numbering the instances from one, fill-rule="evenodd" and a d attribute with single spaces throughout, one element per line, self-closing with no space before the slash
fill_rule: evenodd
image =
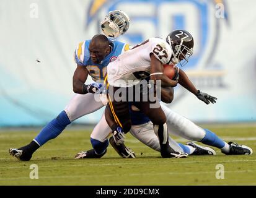
<path id="1" fill-rule="evenodd" d="M 123 35 L 129 28 L 129 16 L 120 10 L 110 11 L 100 23 L 102 32 L 110 38 L 117 38 Z"/>

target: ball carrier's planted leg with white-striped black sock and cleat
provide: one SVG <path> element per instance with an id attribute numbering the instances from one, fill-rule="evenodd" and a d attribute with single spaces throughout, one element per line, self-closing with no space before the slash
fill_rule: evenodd
<path id="1" fill-rule="evenodd" d="M 158 101 L 156 101 L 156 103 L 158 103 Z M 164 114 L 164 111 L 162 111 L 160 105 L 158 108 L 156 108 L 157 105 L 154 105 L 155 108 L 151 108 L 151 104 L 152 103 L 149 102 L 138 102 L 136 103 L 136 106 L 139 108 L 139 110 L 143 111 L 143 113 L 146 114 L 146 116 L 148 116 L 154 124 L 153 129 L 159 140 L 161 156 L 164 158 L 187 157 L 186 153 L 176 152 L 172 147 L 170 147 L 166 115 Z"/>

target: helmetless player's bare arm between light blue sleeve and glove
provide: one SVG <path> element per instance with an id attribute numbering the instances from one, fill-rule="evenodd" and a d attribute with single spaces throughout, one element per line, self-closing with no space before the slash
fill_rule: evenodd
<path id="1" fill-rule="evenodd" d="M 84 83 L 87 80 L 89 72 L 85 66 L 77 64 L 76 70 L 73 75 L 73 91 L 79 94 L 85 94 L 83 92 Z"/>

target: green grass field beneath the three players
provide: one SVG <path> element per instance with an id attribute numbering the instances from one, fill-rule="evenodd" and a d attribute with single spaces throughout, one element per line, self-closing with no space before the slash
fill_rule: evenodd
<path id="1" fill-rule="evenodd" d="M 255 126 L 210 126 L 224 140 L 235 140 L 256 152 Z M 120 158 L 111 145 L 100 159 L 75 160 L 74 155 L 90 149 L 90 132 L 69 127 L 34 153 L 30 161 L 18 161 L 10 147 L 30 142 L 38 131 L 0 132 L 0 185 L 256 185 L 256 155 L 161 158 L 126 134 L 126 145 L 137 158 Z M 175 138 L 179 142 L 186 140 Z M 38 179 L 30 179 L 30 165 L 38 165 Z M 216 165 L 224 165 L 224 179 L 216 179 Z"/>

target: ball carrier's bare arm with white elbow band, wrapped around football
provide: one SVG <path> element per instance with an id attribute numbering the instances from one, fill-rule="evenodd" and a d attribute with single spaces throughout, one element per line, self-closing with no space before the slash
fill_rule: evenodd
<path id="1" fill-rule="evenodd" d="M 154 54 L 150 54 L 151 59 L 151 74 L 150 79 L 154 80 L 161 80 L 161 86 L 163 87 L 175 87 L 177 85 L 176 80 L 170 80 L 166 75 L 164 75 L 164 68 L 162 66 L 162 62 L 160 62 Z"/>

